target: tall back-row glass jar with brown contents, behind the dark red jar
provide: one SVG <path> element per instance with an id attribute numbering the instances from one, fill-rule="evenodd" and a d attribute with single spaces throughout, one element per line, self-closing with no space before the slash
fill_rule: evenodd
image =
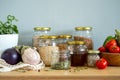
<path id="1" fill-rule="evenodd" d="M 89 50 L 93 49 L 92 27 L 75 27 L 74 40 L 84 41 Z"/>

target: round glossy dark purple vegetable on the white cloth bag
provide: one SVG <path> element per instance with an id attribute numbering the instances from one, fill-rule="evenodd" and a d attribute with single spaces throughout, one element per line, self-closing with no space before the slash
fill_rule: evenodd
<path id="1" fill-rule="evenodd" d="M 8 64 L 14 65 L 22 61 L 21 55 L 16 51 L 15 48 L 6 49 L 2 55 L 1 59 L 4 59 Z"/>

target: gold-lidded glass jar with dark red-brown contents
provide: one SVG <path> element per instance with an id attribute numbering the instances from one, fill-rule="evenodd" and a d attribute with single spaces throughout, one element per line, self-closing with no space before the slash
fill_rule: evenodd
<path id="1" fill-rule="evenodd" d="M 84 66 L 87 63 L 87 47 L 83 41 L 75 41 L 71 66 Z"/>

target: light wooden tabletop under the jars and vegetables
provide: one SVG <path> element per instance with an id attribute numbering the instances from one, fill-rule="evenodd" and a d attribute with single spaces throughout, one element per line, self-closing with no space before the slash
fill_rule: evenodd
<path id="1" fill-rule="evenodd" d="M 120 80 L 120 67 L 97 68 L 73 67 L 70 70 L 11 71 L 0 73 L 0 80 Z"/>

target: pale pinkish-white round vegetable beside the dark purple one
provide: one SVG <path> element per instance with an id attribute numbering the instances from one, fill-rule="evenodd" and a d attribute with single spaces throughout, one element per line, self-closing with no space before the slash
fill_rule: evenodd
<path id="1" fill-rule="evenodd" d="M 39 53 L 35 49 L 27 48 L 24 50 L 24 53 L 22 54 L 22 60 L 24 63 L 37 65 L 40 63 L 41 59 Z"/>

